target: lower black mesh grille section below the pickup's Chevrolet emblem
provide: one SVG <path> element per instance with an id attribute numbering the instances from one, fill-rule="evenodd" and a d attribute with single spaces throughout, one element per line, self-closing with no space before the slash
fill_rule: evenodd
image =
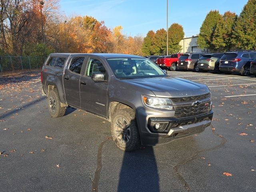
<path id="1" fill-rule="evenodd" d="M 205 114 L 210 111 L 210 102 L 201 103 L 197 106 L 184 105 L 184 106 L 176 106 L 174 117 L 183 118 L 196 116 L 200 114 Z"/>

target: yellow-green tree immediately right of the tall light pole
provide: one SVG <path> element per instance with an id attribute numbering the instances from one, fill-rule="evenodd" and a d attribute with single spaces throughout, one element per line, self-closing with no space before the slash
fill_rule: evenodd
<path id="1" fill-rule="evenodd" d="M 178 23 L 173 23 L 168 29 L 168 54 L 178 53 L 182 50 L 180 41 L 184 38 L 183 27 Z"/>

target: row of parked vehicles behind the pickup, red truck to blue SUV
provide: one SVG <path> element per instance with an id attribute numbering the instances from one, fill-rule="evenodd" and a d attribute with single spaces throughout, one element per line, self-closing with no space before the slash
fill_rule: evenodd
<path id="1" fill-rule="evenodd" d="M 256 52 L 234 51 L 226 53 L 185 53 L 159 56 L 154 61 L 160 68 L 166 70 L 194 70 L 231 74 L 239 72 L 242 76 L 256 74 Z"/>

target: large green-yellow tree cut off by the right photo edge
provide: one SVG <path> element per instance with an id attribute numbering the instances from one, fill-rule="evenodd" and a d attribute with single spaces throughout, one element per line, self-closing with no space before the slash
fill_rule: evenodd
<path id="1" fill-rule="evenodd" d="M 241 49 L 256 50 L 256 0 L 248 0 L 234 27 L 232 43 Z"/>

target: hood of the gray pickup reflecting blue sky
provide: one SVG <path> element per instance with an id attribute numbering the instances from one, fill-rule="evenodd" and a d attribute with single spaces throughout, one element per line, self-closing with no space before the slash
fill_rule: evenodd
<path id="1" fill-rule="evenodd" d="M 151 90 L 158 97 L 188 97 L 210 92 L 206 85 L 182 78 L 141 78 L 126 82 Z"/>

